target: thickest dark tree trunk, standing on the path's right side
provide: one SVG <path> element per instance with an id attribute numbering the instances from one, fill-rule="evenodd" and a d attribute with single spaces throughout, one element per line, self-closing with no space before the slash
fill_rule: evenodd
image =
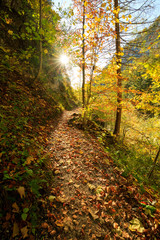
<path id="1" fill-rule="evenodd" d="M 118 13 L 118 0 L 114 0 L 115 13 L 115 32 L 116 32 L 116 63 L 117 63 L 117 111 L 115 129 L 113 134 L 116 136 L 120 133 L 121 116 L 122 116 L 122 76 L 121 76 L 121 56 L 120 56 L 120 25 Z"/>

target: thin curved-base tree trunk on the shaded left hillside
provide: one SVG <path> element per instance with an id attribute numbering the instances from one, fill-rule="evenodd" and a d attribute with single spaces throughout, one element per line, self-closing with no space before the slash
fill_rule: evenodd
<path id="1" fill-rule="evenodd" d="M 42 0 L 39 0 L 39 29 L 42 30 Z M 40 34 L 39 42 L 39 70 L 35 80 L 38 80 L 42 72 L 42 35 Z"/>

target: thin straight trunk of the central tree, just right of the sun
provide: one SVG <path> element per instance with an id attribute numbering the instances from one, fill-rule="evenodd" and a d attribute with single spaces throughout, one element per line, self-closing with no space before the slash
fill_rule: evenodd
<path id="1" fill-rule="evenodd" d="M 85 1 L 83 1 L 83 26 L 82 26 L 82 107 L 85 108 Z"/>

